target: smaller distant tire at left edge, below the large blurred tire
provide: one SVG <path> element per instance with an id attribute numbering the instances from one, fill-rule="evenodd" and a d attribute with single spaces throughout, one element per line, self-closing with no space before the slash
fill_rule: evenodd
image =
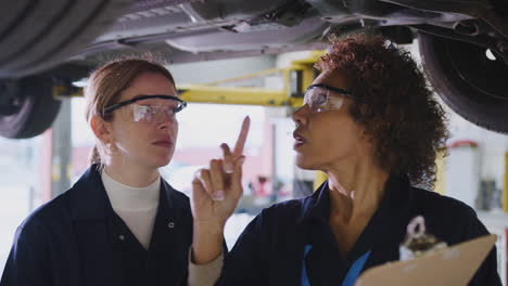
<path id="1" fill-rule="evenodd" d="M 0 135 L 11 139 L 33 138 L 51 127 L 60 110 L 60 101 L 53 99 L 50 77 L 30 77 L 18 82 L 20 110 L 0 116 Z M 0 94 L 1 96 L 1 94 Z"/>

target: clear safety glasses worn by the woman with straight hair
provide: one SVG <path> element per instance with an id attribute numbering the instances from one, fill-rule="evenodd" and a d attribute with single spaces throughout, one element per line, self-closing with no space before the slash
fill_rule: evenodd
<path id="1" fill-rule="evenodd" d="M 169 104 L 151 105 L 150 99 L 168 100 Z M 131 100 L 113 104 L 104 108 L 104 115 L 118 109 L 120 117 L 127 121 L 157 123 L 174 119 L 176 114 L 187 106 L 187 102 L 172 95 L 138 95 Z"/>

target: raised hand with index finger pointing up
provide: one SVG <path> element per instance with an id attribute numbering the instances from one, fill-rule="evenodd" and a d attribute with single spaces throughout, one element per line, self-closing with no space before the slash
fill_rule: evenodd
<path id="1" fill-rule="evenodd" d="M 192 180 L 192 248 L 196 263 L 208 262 L 221 251 L 224 226 L 243 194 L 243 147 L 250 123 L 251 119 L 245 117 L 232 152 L 223 143 L 223 159 L 211 160 L 209 167 L 200 169 Z"/>

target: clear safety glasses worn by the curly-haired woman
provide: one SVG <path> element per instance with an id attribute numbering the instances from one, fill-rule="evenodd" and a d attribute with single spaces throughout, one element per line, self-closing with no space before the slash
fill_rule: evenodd
<path id="1" fill-rule="evenodd" d="M 336 94 L 330 95 L 330 92 Z M 304 93 L 304 105 L 308 105 L 310 113 L 339 110 L 344 104 L 344 96 L 358 101 L 350 91 L 327 84 L 312 84 Z"/>

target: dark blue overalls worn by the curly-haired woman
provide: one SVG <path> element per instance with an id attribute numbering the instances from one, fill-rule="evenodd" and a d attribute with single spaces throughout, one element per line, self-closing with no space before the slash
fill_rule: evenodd
<path id="1" fill-rule="evenodd" d="M 225 258 L 216 285 L 354 285 L 365 270 L 398 260 L 406 226 L 416 216 L 449 245 L 487 234 L 467 205 L 391 176 L 380 207 L 343 257 L 329 225 L 327 183 L 313 195 L 274 205 L 245 229 Z M 494 249 L 470 285 L 500 285 Z"/>

